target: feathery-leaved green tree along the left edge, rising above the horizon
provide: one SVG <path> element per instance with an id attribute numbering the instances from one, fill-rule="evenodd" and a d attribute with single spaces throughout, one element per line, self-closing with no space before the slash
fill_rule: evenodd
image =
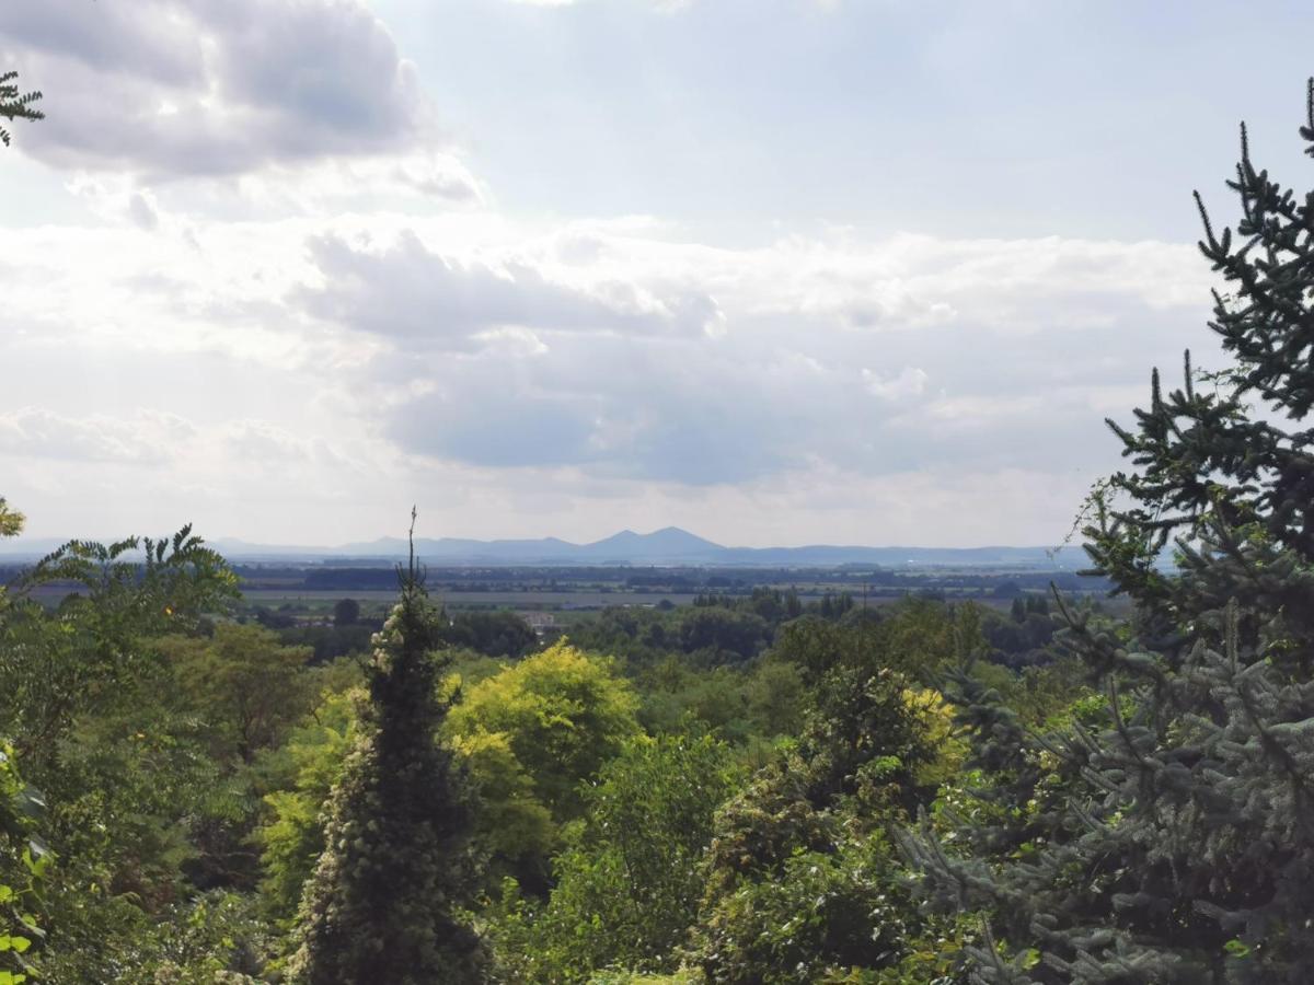
<path id="1" fill-rule="evenodd" d="M 49 583 L 75 588 L 53 611 L 30 599 Z M 42 876 L 50 981 L 148 978 L 159 930 L 206 856 L 202 829 L 240 810 L 155 646 L 163 633 L 202 629 L 234 595 L 222 558 L 187 528 L 162 541 L 68 544 L 5 595 L 0 718 L 46 793 L 41 827 L 59 859 L 51 867 L 29 847 L 41 872 L 12 862 Z"/>

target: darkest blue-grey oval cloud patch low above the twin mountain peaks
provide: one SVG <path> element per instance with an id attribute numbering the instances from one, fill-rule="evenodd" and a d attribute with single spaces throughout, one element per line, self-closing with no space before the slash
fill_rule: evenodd
<path id="1" fill-rule="evenodd" d="M 825 440 L 816 410 L 844 397 L 798 378 L 763 391 L 771 370 L 741 355 L 710 340 L 570 336 L 518 361 L 461 356 L 434 364 L 436 390 L 393 408 L 388 431 L 439 460 L 690 486 L 805 465 L 808 443 Z"/>

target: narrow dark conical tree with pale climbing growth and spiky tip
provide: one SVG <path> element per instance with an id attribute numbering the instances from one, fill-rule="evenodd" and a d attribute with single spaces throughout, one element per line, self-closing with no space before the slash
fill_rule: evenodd
<path id="1" fill-rule="evenodd" d="M 414 512 L 411 515 L 414 535 Z M 289 978 L 305 985 L 484 980 L 484 950 L 459 909 L 470 893 L 470 814 L 434 655 L 442 623 L 417 567 L 376 637 L 363 735 L 326 806 L 325 851 L 300 911 Z"/>

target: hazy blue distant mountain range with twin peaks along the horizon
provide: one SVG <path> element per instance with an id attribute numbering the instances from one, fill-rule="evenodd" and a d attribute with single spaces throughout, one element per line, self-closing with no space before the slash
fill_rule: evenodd
<path id="1" fill-rule="evenodd" d="M 18 538 L 0 542 L 0 557 L 12 559 L 39 557 L 59 545 L 55 540 Z M 406 556 L 406 541 L 381 537 L 364 544 L 338 548 L 298 548 L 215 540 L 210 546 L 233 561 L 285 561 L 360 563 L 392 561 Z M 959 566 L 959 567 L 1042 567 L 1071 570 L 1084 567 L 1079 549 L 1053 554 L 1051 548 L 863 548 L 815 544 L 803 548 L 727 548 L 710 540 L 666 527 L 652 533 L 620 533 L 594 541 L 572 544 L 557 537 L 539 540 L 419 538 L 415 552 L 431 565 L 745 565 L 813 567 L 836 565 Z"/>

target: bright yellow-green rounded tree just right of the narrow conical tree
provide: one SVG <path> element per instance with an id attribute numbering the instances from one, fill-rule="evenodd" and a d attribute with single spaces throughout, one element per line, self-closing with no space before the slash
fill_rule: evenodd
<path id="1" fill-rule="evenodd" d="M 579 781 L 639 733 L 637 709 L 639 699 L 610 658 L 562 641 L 472 687 L 445 732 L 459 749 L 484 750 L 485 764 L 498 770 L 506 763 L 491 750 L 505 745 L 533 796 L 561 822 L 579 814 Z M 477 760 L 472 768 L 481 791 L 495 785 L 480 775 Z"/>

